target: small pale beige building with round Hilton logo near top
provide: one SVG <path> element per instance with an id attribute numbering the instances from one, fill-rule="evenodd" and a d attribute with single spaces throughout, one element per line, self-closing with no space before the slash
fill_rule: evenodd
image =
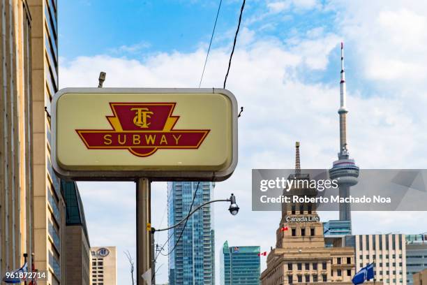
<path id="1" fill-rule="evenodd" d="M 117 285 L 116 247 L 91 247 L 91 284 Z"/>

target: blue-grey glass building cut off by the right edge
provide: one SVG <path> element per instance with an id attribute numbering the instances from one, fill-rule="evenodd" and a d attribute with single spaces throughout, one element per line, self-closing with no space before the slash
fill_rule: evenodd
<path id="1" fill-rule="evenodd" d="M 427 235 L 406 235 L 406 282 L 414 284 L 413 276 L 427 268 Z M 427 272 L 424 273 L 427 278 Z M 422 280 L 422 279 L 421 279 Z M 427 284 L 427 282 L 425 283 Z"/>

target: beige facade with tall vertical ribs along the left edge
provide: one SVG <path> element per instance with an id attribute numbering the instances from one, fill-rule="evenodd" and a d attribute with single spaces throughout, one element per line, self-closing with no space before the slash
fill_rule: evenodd
<path id="1" fill-rule="evenodd" d="M 33 252 L 31 13 L 27 1 L 3 1 L 0 13 L 0 275 Z"/>

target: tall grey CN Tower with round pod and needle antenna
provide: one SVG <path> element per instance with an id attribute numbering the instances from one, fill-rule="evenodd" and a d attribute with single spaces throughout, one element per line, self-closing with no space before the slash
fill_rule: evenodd
<path id="1" fill-rule="evenodd" d="M 359 167 L 354 162 L 354 159 L 350 159 L 347 148 L 347 113 L 344 45 L 341 43 L 340 108 L 338 109 L 338 115 L 340 116 L 340 152 L 338 152 L 338 160 L 334 161 L 332 168 L 329 170 L 331 180 L 338 181 L 340 198 L 350 196 L 350 187 L 357 184 L 357 178 L 359 177 Z M 352 214 L 350 203 L 340 203 L 340 221 L 349 221 L 351 228 Z"/>

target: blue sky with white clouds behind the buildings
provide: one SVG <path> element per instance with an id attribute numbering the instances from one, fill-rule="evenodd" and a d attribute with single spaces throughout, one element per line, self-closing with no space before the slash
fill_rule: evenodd
<path id="1" fill-rule="evenodd" d="M 59 1 L 61 87 L 97 86 L 99 71 L 107 72 L 105 87 L 197 87 L 218 3 Z M 222 86 L 240 6 L 241 1 L 223 0 L 202 87 Z M 426 9 L 424 1 L 247 1 L 227 81 L 245 107 L 239 165 L 214 191 L 216 198 L 233 191 L 241 214 L 230 220 L 215 207 L 217 277 L 225 240 L 231 246 L 260 245 L 262 251 L 276 243 L 280 214 L 250 210 L 252 168 L 292 167 L 296 140 L 303 168 L 329 168 L 336 159 L 340 41 L 351 156 L 361 168 L 424 168 L 427 136 L 419 130 L 427 126 L 427 17 L 419 11 Z M 79 187 L 91 244 L 117 244 L 119 284 L 129 282 L 121 253 L 135 252 L 134 184 L 79 182 Z M 165 183 L 153 184 L 157 228 L 166 222 L 165 193 Z M 425 232 L 416 214 L 354 213 L 354 231 Z M 366 219 L 373 222 L 366 225 Z M 231 222 L 233 227 L 224 226 Z M 167 259 L 160 264 L 158 280 L 165 282 Z"/>

